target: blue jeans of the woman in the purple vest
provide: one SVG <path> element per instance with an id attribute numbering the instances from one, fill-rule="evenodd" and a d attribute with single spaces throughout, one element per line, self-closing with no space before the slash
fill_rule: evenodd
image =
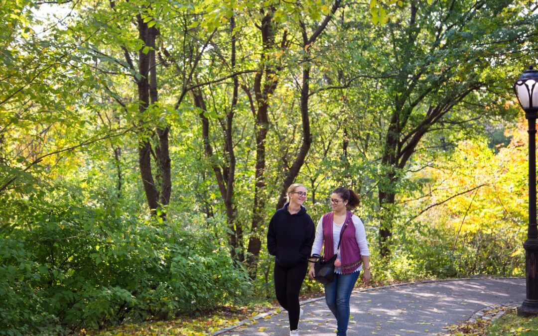
<path id="1" fill-rule="evenodd" d="M 360 272 L 336 274 L 334 280 L 325 285 L 325 302 L 336 317 L 337 336 L 346 336 L 349 324 L 349 298 Z"/>

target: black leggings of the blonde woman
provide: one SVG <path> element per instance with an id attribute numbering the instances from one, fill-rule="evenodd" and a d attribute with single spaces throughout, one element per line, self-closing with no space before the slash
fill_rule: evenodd
<path id="1" fill-rule="evenodd" d="M 274 263 L 274 291 L 278 303 L 288 311 L 289 330 L 296 330 L 299 324 L 299 292 L 305 280 L 306 263 L 295 267 L 282 267 Z"/>

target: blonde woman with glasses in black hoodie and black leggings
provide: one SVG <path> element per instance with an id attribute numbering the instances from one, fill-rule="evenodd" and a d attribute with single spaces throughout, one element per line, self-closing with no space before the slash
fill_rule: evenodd
<path id="1" fill-rule="evenodd" d="M 289 334 L 299 335 L 299 292 L 305 280 L 308 256 L 314 242 L 314 222 L 302 205 L 307 192 L 294 183 L 287 190 L 287 203 L 274 213 L 267 231 L 267 250 L 274 255 L 274 291 L 288 311 Z"/>

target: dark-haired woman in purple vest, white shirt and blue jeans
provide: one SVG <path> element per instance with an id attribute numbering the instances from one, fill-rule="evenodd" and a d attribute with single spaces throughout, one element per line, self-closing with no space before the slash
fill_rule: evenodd
<path id="1" fill-rule="evenodd" d="M 344 187 L 332 191 L 332 211 L 325 213 L 317 223 L 316 238 L 312 254 L 320 254 L 330 259 L 339 253 L 335 261 L 335 275 L 331 283 L 325 285 L 325 302 L 336 317 L 337 335 L 345 336 L 349 324 L 349 299 L 360 271 L 364 269 L 363 281 L 370 282 L 370 252 L 366 241 L 364 224 L 351 213 L 359 205 L 360 199 L 351 189 Z M 314 263 L 310 263 L 308 276 L 315 278 Z"/>

